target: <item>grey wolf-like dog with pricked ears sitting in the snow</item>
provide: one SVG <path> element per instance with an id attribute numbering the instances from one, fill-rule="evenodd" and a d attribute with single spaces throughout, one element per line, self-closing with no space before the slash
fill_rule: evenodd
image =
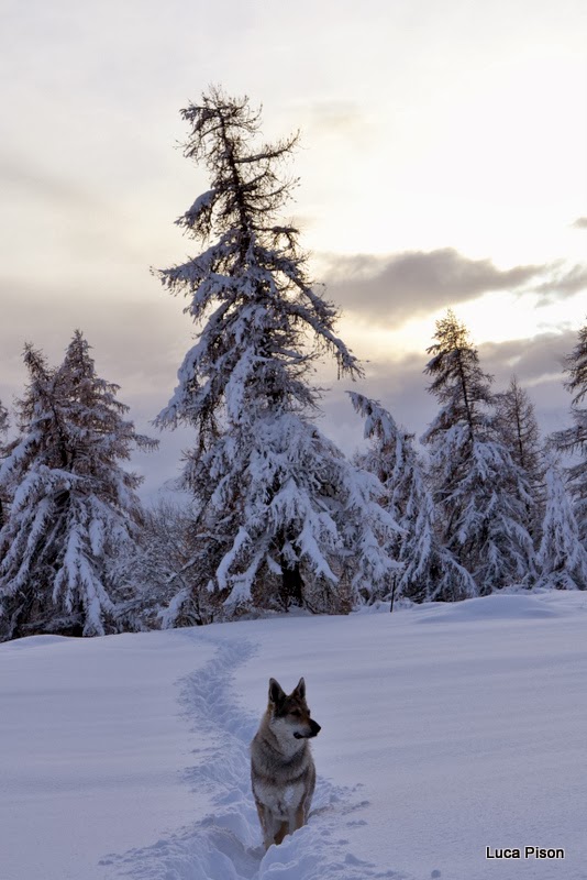
<path id="1" fill-rule="evenodd" d="M 266 849 L 308 820 L 315 785 L 308 740 L 319 733 L 303 679 L 289 695 L 269 679 L 269 704 L 251 744 L 251 784 Z"/>

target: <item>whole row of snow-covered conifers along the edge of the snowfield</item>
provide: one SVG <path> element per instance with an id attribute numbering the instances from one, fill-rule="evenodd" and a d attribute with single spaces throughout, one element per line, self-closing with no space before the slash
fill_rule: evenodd
<path id="1" fill-rule="evenodd" d="M 199 254 L 158 274 L 199 333 L 155 424 L 193 432 L 191 504 L 141 505 L 123 464 L 156 441 L 135 432 L 79 331 L 57 367 L 27 345 L 16 437 L 0 451 L 0 639 L 586 588 L 587 326 L 566 363 L 572 427 L 547 443 L 524 389 L 492 391 L 448 312 L 428 352 L 439 411 L 421 446 L 351 393 L 368 444 L 350 461 L 318 430 L 311 376 L 324 353 L 342 376 L 362 367 L 280 216 L 297 139 L 259 144 L 258 112 L 220 90 L 182 116 L 210 189 L 177 221 Z M 4 437 L 8 424 L 0 406 Z"/>

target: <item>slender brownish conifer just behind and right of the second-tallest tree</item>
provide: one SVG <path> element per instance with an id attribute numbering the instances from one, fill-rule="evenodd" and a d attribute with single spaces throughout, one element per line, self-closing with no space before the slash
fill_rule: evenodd
<path id="1" fill-rule="evenodd" d="M 494 402 L 499 438 L 518 468 L 528 475 L 533 503 L 527 508 L 524 525 L 536 541 L 544 517 L 544 469 L 534 405 L 516 376 L 511 377 L 507 391 L 494 396 Z"/>

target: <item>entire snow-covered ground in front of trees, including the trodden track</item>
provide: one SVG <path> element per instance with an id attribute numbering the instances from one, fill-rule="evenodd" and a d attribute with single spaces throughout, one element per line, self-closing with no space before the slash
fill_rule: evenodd
<path id="1" fill-rule="evenodd" d="M 544 593 L 2 645 L 0 879 L 585 880 L 586 636 L 587 595 Z M 264 854 L 270 675 L 322 732 L 309 824 Z"/>

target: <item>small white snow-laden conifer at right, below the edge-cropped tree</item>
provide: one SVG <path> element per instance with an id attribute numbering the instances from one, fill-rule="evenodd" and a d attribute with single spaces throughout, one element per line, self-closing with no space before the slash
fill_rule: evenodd
<path id="1" fill-rule="evenodd" d="M 579 541 L 577 520 L 565 490 L 560 464 L 547 455 L 542 541 L 536 554 L 536 586 L 587 590 L 587 550 Z"/>

